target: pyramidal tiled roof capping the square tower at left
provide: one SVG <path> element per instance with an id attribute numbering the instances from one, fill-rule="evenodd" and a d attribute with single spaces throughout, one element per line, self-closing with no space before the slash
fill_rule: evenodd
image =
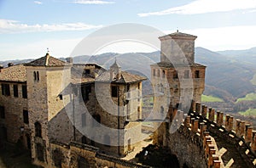
<path id="1" fill-rule="evenodd" d="M 50 56 L 49 53 L 46 53 L 44 57 L 33 60 L 32 62 L 27 63 L 26 66 L 65 66 L 66 64 L 66 62 L 60 59 L 55 59 Z"/>

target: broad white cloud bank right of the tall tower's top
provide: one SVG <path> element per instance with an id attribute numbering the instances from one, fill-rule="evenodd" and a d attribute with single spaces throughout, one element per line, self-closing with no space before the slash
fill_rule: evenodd
<path id="1" fill-rule="evenodd" d="M 219 51 L 256 47 L 255 30 L 256 25 L 243 25 L 180 31 L 198 36 L 195 46 Z M 166 34 L 172 33 L 171 31 L 165 32 Z"/>

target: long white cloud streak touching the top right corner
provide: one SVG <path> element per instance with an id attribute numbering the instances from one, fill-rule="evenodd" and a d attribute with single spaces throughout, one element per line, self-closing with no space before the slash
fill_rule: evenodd
<path id="1" fill-rule="evenodd" d="M 166 14 L 207 14 L 252 8 L 256 8 L 255 0 L 196 0 L 183 6 L 168 8 L 158 12 L 138 14 L 138 16 L 146 17 L 151 15 Z"/>

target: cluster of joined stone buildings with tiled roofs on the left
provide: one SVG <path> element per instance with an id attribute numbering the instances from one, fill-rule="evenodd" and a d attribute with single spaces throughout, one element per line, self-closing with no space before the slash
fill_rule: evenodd
<path id="1" fill-rule="evenodd" d="M 36 165 L 51 165 L 51 142 L 79 142 L 125 156 L 142 130 L 143 76 L 47 53 L 1 69 L 1 143 L 20 141 Z"/>

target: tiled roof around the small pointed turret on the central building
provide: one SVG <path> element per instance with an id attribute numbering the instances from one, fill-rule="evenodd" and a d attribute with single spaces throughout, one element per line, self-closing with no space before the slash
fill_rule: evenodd
<path id="1" fill-rule="evenodd" d="M 107 82 L 116 82 L 116 83 L 132 83 L 135 81 L 147 80 L 146 77 L 137 76 L 135 74 L 131 74 L 126 71 L 121 71 L 120 74 L 121 74 L 121 77 L 119 80 L 117 80 L 116 78 L 113 78 L 112 80 L 110 80 L 110 70 L 107 70 L 107 71 L 103 72 L 100 76 L 98 76 L 96 78 L 96 81 L 105 81 L 105 82 L 107 81 Z"/>

